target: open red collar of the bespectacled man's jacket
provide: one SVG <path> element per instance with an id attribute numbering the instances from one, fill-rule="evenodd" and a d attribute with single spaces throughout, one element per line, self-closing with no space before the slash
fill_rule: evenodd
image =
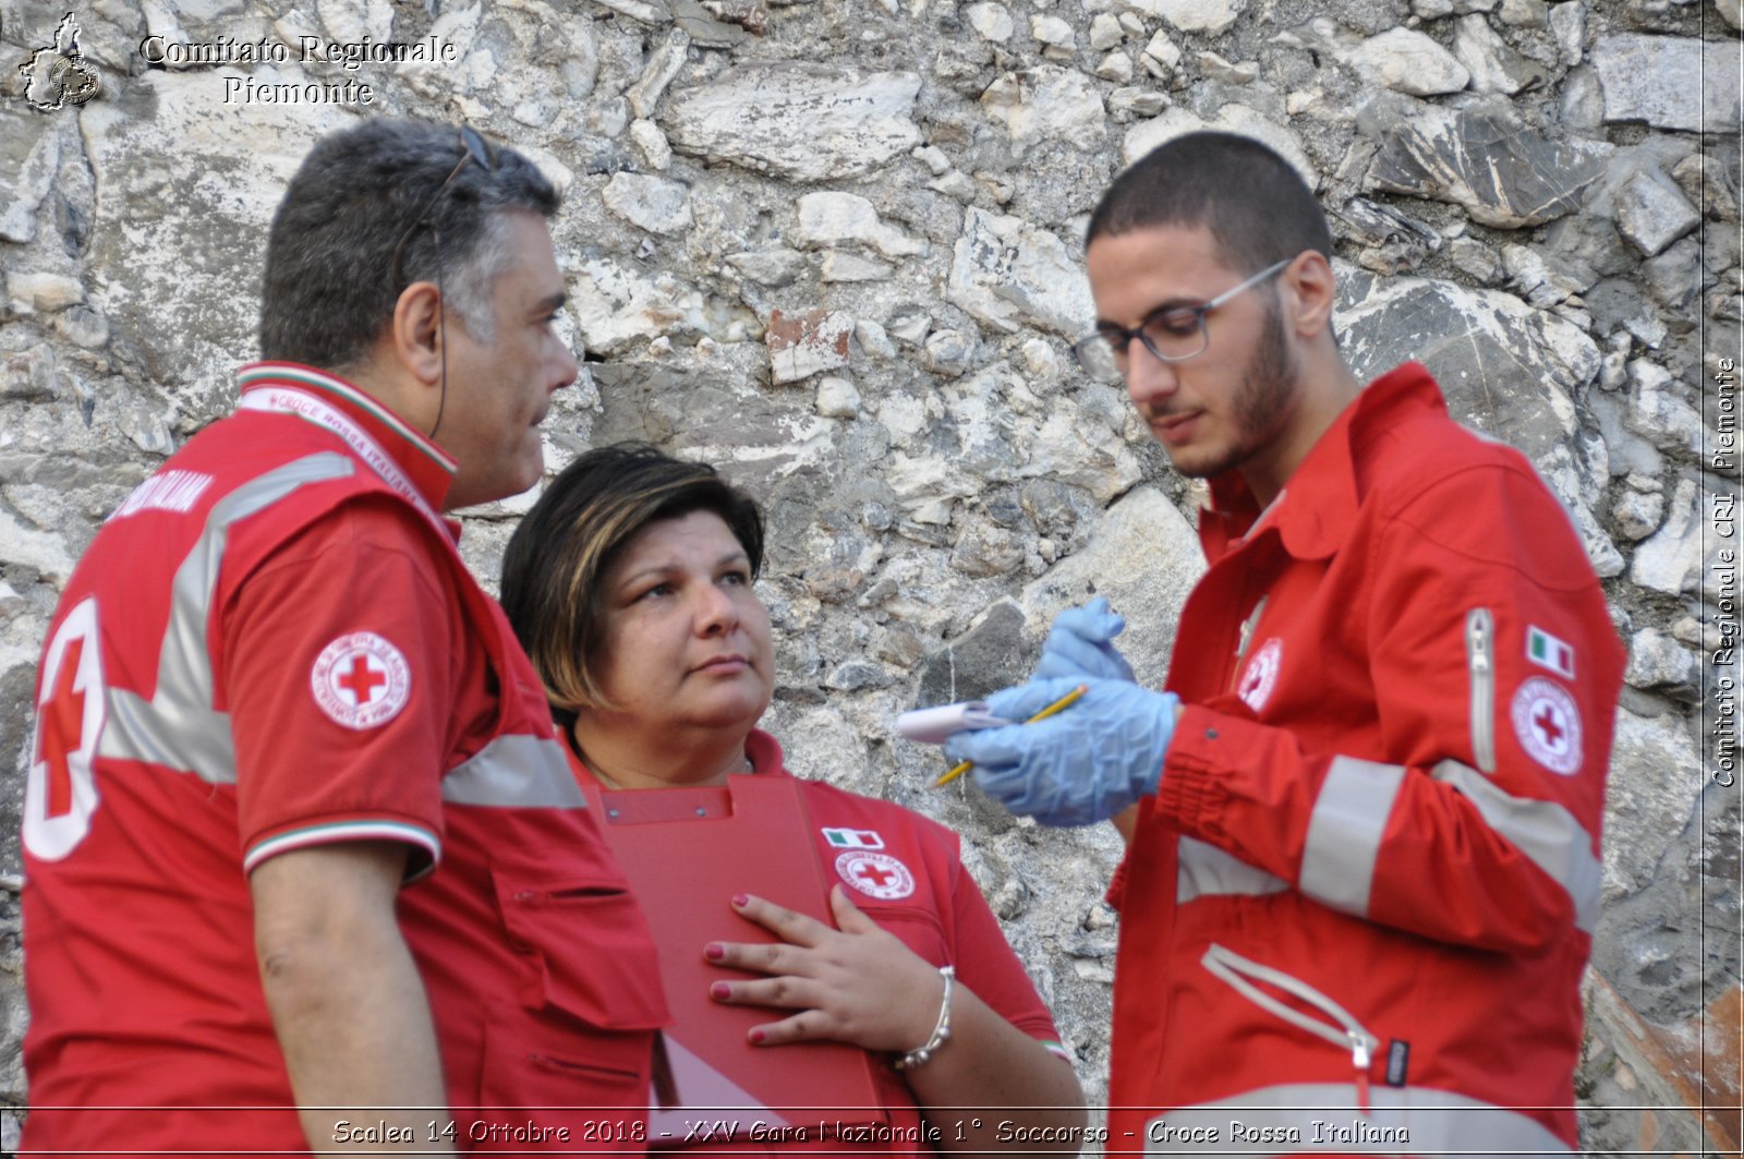
<path id="1" fill-rule="evenodd" d="M 1446 414 L 1435 379 L 1421 363 L 1404 363 L 1369 382 L 1308 450 L 1284 490 L 1261 511 L 1240 471 L 1210 480 L 1210 508 L 1200 518 L 1200 543 L 1217 559 L 1256 531 L 1275 529 L 1298 559 L 1324 559 L 1343 546 L 1357 520 L 1357 463 L 1404 408 Z"/>

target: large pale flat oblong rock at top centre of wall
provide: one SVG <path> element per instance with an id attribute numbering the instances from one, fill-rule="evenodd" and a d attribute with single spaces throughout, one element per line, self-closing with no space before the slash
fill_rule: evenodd
<path id="1" fill-rule="evenodd" d="M 675 91 L 673 150 L 794 182 L 863 176 L 921 141 L 921 77 L 832 65 L 743 65 Z"/>

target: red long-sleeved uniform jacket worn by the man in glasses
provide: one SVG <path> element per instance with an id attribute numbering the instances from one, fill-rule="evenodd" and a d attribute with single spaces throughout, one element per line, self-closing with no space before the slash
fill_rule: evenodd
<path id="1" fill-rule="evenodd" d="M 1264 513 L 1212 496 L 1111 890 L 1113 1149 L 1573 1145 L 1624 651 L 1568 517 L 1416 363 Z"/>

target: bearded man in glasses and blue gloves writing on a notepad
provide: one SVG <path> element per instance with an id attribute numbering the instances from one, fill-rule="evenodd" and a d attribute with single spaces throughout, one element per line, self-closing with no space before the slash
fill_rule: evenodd
<path id="1" fill-rule="evenodd" d="M 1577 1147 L 1580 976 L 1624 651 L 1578 536 L 1418 363 L 1362 386 L 1296 171 L 1195 133 L 1088 229 L 1090 374 L 1210 485 L 1167 691 L 1106 602 L 952 759 L 1127 857 L 1111 1150 Z"/>

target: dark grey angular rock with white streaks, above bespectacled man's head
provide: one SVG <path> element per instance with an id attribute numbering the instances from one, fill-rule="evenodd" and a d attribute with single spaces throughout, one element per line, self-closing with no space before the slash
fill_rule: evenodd
<path id="1" fill-rule="evenodd" d="M 1604 173 L 1608 145 L 1528 129 L 1507 108 L 1421 108 L 1400 119 L 1374 101 L 1359 126 L 1381 148 L 1364 190 L 1451 201 L 1498 229 L 1542 225 L 1580 208 Z"/>

